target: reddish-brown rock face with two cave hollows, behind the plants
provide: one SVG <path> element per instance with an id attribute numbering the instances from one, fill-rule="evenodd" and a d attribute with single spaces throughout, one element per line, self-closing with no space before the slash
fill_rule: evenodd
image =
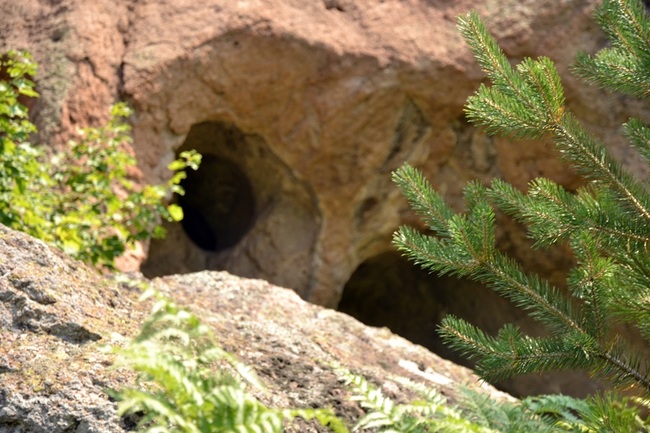
<path id="1" fill-rule="evenodd" d="M 567 72 L 578 50 L 605 43 L 592 20 L 596 0 L 9 3 L 0 4 L 10 29 L 0 48 L 29 48 L 41 63 L 43 98 L 34 109 L 45 137 L 56 144 L 123 98 L 136 109 L 144 180 L 166 179 L 182 150 L 205 155 L 181 201 L 188 219 L 151 243 L 148 276 L 218 269 L 263 278 L 432 348 L 440 346 L 434 322 L 450 311 L 537 332 L 490 292 L 421 279 L 390 244 L 400 224 L 421 224 L 390 181 L 406 161 L 459 209 L 470 179 L 497 176 L 521 188 L 536 176 L 569 189 L 581 183 L 549 143 L 486 137 L 464 120 L 463 104 L 482 80 L 455 28 L 471 8 L 513 61 L 556 61 L 570 108 L 645 174 L 618 133 L 631 114 L 650 118 L 647 110 Z M 565 251 L 530 254 L 521 229 L 505 219 L 499 242 L 562 283 Z M 392 308 L 398 297 L 401 307 Z M 574 381 L 533 382 L 510 389 L 577 389 Z"/>

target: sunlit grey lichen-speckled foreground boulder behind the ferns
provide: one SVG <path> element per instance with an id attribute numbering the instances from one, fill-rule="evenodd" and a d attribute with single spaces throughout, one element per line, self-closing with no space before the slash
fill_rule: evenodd
<path id="1" fill-rule="evenodd" d="M 106 388 L 132 383 L 104 344 L 134 335 L 149 306 L 140 290 L 100 276 L 40 241 L 0 226 L 0 433 L 109 433 L 133 424 L 116 415 Z M 348 421 L 361 408 L 332 372 L 336 361 L 409 398 L 395 375 L 427 383 L 452 401 L 469 370 L 388 330 L 301 300 L 288 289 L 225 272 L 154 284 L 191 305 L 220 344 L 257 370 L 259 398 L 276 407 L 332 407 Z M 420 366 L 420 367 L 417 367 Z M 428 379 L 427 379 L 428 378 Z M 486 393 L 505 398 L 489 386 Z M 320 431 L 300 426 L 289 431 Z"/>

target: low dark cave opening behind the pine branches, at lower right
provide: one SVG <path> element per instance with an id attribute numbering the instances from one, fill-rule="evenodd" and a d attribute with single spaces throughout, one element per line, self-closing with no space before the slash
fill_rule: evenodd
<path id="1" fill-rule="evenodd" d="M 481 284 L 441 277 L 422 270 L 395 251 L 361 263 L 344 287 L 339 311 L 370 326 L 385 326 L 442 358 L 472 368 L 473 363 L 446 346 L 437 327 L 448 314 L 495 335 L 514 323 L 529 335 L 544 330 L 527 314 Z M 564 393 L 583 397 L 598 389 L 584 372 L 524 375 L 500 382 L 498 388 L 515 396 Z"/>

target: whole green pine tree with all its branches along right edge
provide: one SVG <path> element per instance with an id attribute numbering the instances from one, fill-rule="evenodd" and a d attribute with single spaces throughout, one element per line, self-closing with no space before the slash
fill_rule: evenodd
<path id="1" fill-rule="evenodd" d="M 605 0 L 596 19 L 611 45 L 581 54 L 574 71 L 590 82 L 634 97 L 650 98 L 650 20 L 640 0 Z M 468 99 L 468 118 L 488 133 L 515 138 L 551 137 L 589 182 L 575 193 L 548 179 L 523 193 L 507 182 L 469 183 L 467 211 L 454 212 L 416 169 L 394 174 L 433 236 L 401 227 L 394 243 L 423 268 L 482 282 L 523 308 L 551 332 L 525 335 L 514 325 L 488 335 L 465 320 L 446 317 L 440 332 L 451 347 L 477 361 L 486 380 L 550 370 L 584 369 L 618 386 L 650 395 L 648 362 L 616 326 L 636 328 L 650 341 L 650 189 L 612 157 L 566 105 L 560 76 L 545 57 L 512 67 L 476 13 L 459 29 L 491 86 Z M 629 143 L 650 162 L 650 128 L 638 119 L 624 125 Z M 523 222 L 535 248 L 566 243 L 576 265 L 567 290 L 526 272 L 495 245 L 495 212 Z"/>

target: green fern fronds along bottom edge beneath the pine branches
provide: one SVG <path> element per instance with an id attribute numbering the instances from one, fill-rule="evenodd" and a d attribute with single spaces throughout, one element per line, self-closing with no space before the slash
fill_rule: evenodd
<path id="1" fill-rule="evenodd" d="M 580 400 L 563 395 L 529 397 L 521 401 L 499 401 L 463 389 L 458 404 L 449 406 L 434 389 L 404 378 L 395 380 L 422 396 L 409 404 L 396 404 L 366 379 L 338 369 L 351 388 L 352 399 L 367 413 L 354 431 L 370 429 L 393 432 L 500 432 L 500 433 L 603 433 L 645 432 L 627 400 L 604 395 Z"/>

